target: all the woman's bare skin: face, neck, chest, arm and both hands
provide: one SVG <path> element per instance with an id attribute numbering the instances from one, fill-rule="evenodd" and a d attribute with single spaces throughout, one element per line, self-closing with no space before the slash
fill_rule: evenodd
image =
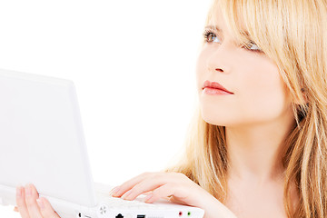
<path id="1" fill-rule="evenodd" d="M 223 31 L 214 32 L 213 42 L 203 46 L 196 64 L 196 79 L 203 119 L 226 127 L 231 163 L 226 203 L 220 203 L 182 173 L 143 173 L 117 186 L 111 194 L 134 200 L 146 193 L 146 203 L 165 198 L 197 206 L 204 209 L 205 218 L 286 217 L 279 154 L 284 137 L 294 124 L 292 99 L 272 60 L 263 53 L 237 45 L 221 13 L 216 18 Z M 233 94 L 203 93 L 206 80 L 223 84 Z M 41 208 L 33 185 L 31 189 L 32 195 L 27 196 L 21 187 L 15 211 L 22 218 L 59 217 L 45 198 L 40 198 L 44 204 Z"/>

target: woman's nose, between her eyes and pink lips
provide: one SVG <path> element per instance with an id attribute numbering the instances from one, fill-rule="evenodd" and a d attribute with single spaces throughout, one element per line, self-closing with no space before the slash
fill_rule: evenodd
<path id="1" fill-rule="evenodd" d="M 232 63 L 233 54 L 226 44 L 213 47 L 207 58 L 209 72 L 228 74 L 231 71 Z"/>

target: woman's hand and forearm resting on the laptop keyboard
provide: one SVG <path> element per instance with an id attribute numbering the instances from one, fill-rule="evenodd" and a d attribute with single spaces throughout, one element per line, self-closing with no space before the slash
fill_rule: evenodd
<path id="1" fill-rule="evenodd" d="M 145 203 L 154 203 L 160 198 L 168 197 L 174 203 L 202 208 L 206 218 L 217 215 L 236 217 L 223 203 L 183 173 L 143 173 L 115 187 L 111 195 L 134 200 L 138 195 L 147 192 L 151 193 L 144 198 Z"/>

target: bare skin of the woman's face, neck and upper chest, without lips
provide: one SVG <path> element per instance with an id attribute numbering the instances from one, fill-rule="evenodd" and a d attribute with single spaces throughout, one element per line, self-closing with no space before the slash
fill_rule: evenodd
<path id="1" fill-rule="evenodd" d="M 287 217 L 280 154 L 295 124 L 291 95 L 277 65 L 264 53 L 236 46 L 223 16 L 216 16 L 223 32 L 203 46 L 196 76 L 203 119 L 225 126 L 231 165 L 224 204 L 239 218 Z M 233 94 L 205 94 L 205 80 L 223 84 Z"/>

